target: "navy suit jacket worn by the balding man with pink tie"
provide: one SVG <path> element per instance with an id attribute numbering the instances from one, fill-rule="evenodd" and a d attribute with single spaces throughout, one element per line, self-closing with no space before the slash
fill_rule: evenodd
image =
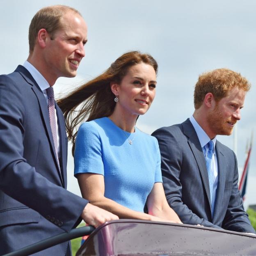
<path id="1" fill-rule="evenodd" d="M 67 138 L 55 104 L 60 171 L 45 96 L 23 66 L 0 75 L 0 255 L 80 222 L 87 201 L 66 190 Z M 40 255 L 65 255 L 69 243 Z"/>

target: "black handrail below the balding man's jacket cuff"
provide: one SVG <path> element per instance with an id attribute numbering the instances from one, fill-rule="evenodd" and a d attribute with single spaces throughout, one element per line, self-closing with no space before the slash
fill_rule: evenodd
<path id="1" fill-rule="evenodd" d="M 81 237 L 83 235 L 89 235 L 92 231 L 94 231 L 93 226 L 84 226 L 78 229 L 72 229 L 69 233 L 64 232 L 59 235 L 52 236 L 47 238 L 41 242 L 34 243 L 32 245 L 28 245 L 23 247 L 17 251 L 5 254 L 3 256 L 27 256 L 30 254 L 34 254 L 38 251 L 42 251 L 54 245 L 58 245 L 62 242 L 69 241 L 74 238 Z"/>

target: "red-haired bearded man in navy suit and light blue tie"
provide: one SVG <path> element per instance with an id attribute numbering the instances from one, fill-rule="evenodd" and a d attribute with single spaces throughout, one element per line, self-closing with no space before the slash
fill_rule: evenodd
<path id="1" fill-rule="evenodd" d="M 204 73 L 194 89 L 194 114 L 152 134 L 167 201 L 185 224 L 255 233 L 238 191 L 236 156 L 216 139 L 231 135 L 249 88 L 229 69 Z"/>

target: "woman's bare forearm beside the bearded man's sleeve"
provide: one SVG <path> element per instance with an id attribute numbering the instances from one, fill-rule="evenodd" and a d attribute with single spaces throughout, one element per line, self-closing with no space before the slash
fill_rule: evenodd
<path id="1" fill-rule="evenodd" d="M 167 219 L 171 222 L 182 223 L 178 215 L 167 203 L 162 183 L 154 184 L 148 199 L 147 206 L 149 214 L 161 219 Z"/>

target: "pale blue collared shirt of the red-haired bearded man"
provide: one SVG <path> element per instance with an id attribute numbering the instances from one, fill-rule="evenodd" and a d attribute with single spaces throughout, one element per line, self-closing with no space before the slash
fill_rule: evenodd
<path id="1" fill-rule="evenodd" d="M 199 139 L 199 142 L 201 144 L 203 155 L 206 158 L 206 155 L 208 153 L 208 142 L 210 141 L 209 136 L 206 134 L 206 132 L 201 128 L 201 126 L 197 123 L 196 119 L 194 117 L 190 117 L 190 122 L 192 123 L 192 126 L 194 127 L 197 137 Z M 214 155 L 214 161 L 212 159 L 211 162 L 211 170 L 213 171 L 213 195 L 212 195 L 212 202 L 211 202 L 211 210 L 212 210 L 212 216 L 214 213 L 214 205 L 215 205 L 215 199 L 216 199 L 216 193 L 217 193 L 217 187 L 218 187 L 218 160 L 217 155 L 215 151 L 215 145 L 216 145 L 216 137 L 212 139 L 214 143 L 213 148 L 213 155 Z"/>

